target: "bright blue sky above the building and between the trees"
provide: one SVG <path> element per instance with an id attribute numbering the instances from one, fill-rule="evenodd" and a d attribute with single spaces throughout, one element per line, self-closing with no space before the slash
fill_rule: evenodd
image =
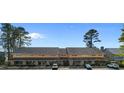
<path id="1" fill-rule="evenodd" d="M 32 37 L 30 47 L 86 47 L 84 34 L 90 29 L 99 32 L 96 47 L 118 48 L 122 23 L 13 23 L 24 27 Z"/>

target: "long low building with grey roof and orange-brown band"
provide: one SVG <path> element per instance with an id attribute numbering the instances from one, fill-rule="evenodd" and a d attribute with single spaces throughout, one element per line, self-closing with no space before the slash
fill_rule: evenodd
<path id="1" fill-rule="evenodd" d="M 59 66 L 83 66 L 86 63 L 95 64 L 97 61 L 104 61 L 104 53 L 93 52 L 92 54 L 87 53 L 90 51 L 81 51 L 83 48 L 65 48 L 60 49 L 54 48 L 41 48 L 45 51 L 39 52 L 41 49 L 38 48 L 25 48 L 12 53 L 10 59 L 10 65 L 15 66 L 52 66 L 53 63 L 57 63 Z M 35 49 L 37 51 L 35 51 Z M 73 50 L 74 49 L 74 50 Z M 75 50 L 76 49 L 76 50 Z M 46 51 L 48 50 L 48 51 Z M 94 54 L 95 53 L 95 54 Z M 99 62 L 100 63 L 100 62 Z"/>

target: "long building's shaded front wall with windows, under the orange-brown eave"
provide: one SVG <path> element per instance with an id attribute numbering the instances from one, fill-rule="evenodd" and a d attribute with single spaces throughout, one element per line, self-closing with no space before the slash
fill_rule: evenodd
<path id="1" fill-rule="evenodd" d="M 42 58 L 42 59 L 12 59 L 10 65 L 15 66 L 52 66 L 57 63 L 59 66 L 83 66 L 84 64 L 95 64 L 97 61 L 104 61 L 104 58 Z M 100 63 L 100 62 L 99 62 Z"/>

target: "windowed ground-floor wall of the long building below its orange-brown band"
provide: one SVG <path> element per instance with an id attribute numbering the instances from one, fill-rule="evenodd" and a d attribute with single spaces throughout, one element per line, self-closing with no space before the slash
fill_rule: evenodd
<path id="1" fill-rule="evenodd" d="M 100 63 L 101 61 L 95 59 L 12 60 L 10 65 L 52 66 L 53 63 L 57 63 L 59 66 L 83 66 L 84 64 L 95 64 L 96 62 Z"/>

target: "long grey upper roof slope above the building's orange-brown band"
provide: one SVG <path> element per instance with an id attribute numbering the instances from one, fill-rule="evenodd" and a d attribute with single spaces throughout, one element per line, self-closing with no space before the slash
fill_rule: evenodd
<path id="1" fill-rule="evenodd" d="M 97 48 L 57 48 L 57 47 L 28 47 L 15 49 L 14 53 L 40 54 L 50 56 L 66 55 L 102 55 L 102 51 Z"/>

